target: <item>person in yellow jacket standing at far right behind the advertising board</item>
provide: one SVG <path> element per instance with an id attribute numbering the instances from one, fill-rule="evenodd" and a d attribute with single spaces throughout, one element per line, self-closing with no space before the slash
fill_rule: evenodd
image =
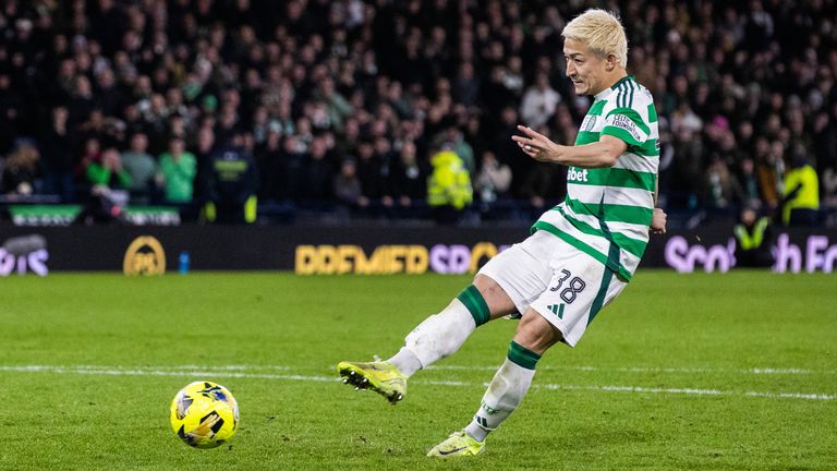
<path id="1" fill-rule="evenodd" d="M 793 158 L 785 174 L 781 224 L 785 226 L 814 226 L 820 209 L 820 180 L 816 170 L 804 157 Z"/>

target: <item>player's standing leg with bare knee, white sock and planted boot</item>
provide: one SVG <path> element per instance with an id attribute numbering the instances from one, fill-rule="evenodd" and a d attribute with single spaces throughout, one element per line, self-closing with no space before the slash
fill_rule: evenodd
<path id="1" fill-rule="evenodd" d="M 506 361 L 494 375 L 474 419 L 436 445 L 427 456 L 448 458 L 484 451 L 485 438 L 497 428 L 529 391 L 541 355 L 561 340 L 561 333 L 532 309 L 526 310 L 509 345 Z"/>

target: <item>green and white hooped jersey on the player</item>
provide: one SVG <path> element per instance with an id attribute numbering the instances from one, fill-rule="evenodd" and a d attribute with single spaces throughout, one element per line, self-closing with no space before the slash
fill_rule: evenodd
<path id="1" fill-rule="evenodd" d="M 603 134 L 628 149 L 611 168 L 567 171 L 567 198 L 544 213 L 532 231 L 548 231 L 630 280 L 648 243 L 659 166 L 657 112 L 651 92 L 626 76 L 596 95 L 575 145 Z"/>

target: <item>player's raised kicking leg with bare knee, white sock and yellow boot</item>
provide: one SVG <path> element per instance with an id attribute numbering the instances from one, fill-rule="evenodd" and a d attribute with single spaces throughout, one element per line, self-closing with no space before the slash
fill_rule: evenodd
<path id="1" fill-rule="evenodd" d="M 338 363 L 343 383 L 369 389 L 396 403 L 407 395 L 407 379 L 416 371 L 459 350 L 476 327 L 490 319 L 517 312 L 517 307 L 496 281 L 477 275 L 441 312 L 415 327 L 404 347 L 387 361 Z"/>

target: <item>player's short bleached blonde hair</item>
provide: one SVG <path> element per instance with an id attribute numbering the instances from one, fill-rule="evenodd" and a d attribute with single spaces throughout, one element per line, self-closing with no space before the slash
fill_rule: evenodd
<path id="1" fill-rule="evenodd" d="M 619 67 L 628 67 L 628 38 L 622 23 L 614 13 L 590 9 L 567 23 L 561 36 L 584 43 L 602 57 L 611 53 Z"/>

